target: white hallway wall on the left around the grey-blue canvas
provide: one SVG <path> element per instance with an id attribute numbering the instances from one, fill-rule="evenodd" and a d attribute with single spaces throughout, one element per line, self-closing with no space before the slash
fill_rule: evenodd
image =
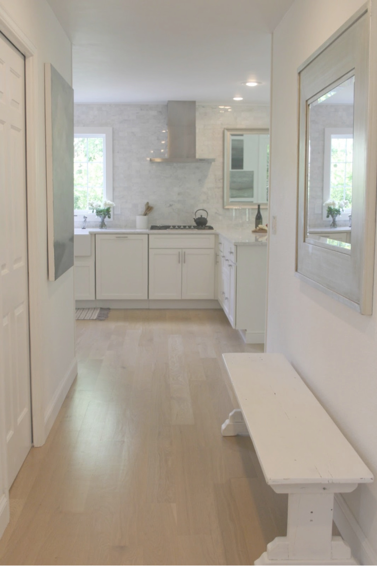
<path id="1" fill-rule="evenodd" d="M 0 0 L 0 30 L 34 51 L 26 61 L 29 284 L 33 435 L 41 445 L 76 375 L 73 268 L 49 282 L 46 243 L 44 63 L 71 84 L 71 44 L 45 0 Z"/>

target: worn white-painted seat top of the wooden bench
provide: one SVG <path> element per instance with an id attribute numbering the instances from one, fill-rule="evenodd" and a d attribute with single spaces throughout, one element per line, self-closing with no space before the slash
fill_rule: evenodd
<path id="1" fill-rule="evenodd" d="M 223 354 L 268 484 L 365 483 L 373 475 L 282 354 Z"/>

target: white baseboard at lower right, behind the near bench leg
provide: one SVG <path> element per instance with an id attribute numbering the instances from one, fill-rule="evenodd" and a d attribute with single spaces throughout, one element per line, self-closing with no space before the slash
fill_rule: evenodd
<path id="1" fill-rule="evenodd" d="M 341 494 L 335 495 L 334 521 L 340 534 L 351 547 L 352 556 L 360 564 L 377 564 L 377 554 L 367 541 L 365 534 Z"/>

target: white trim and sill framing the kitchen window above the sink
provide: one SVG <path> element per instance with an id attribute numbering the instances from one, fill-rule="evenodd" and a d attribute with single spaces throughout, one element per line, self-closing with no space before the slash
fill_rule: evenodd
<path id="1" fill-rule="evenodd" d="M 74 135 L 76 137 L 80 136 L 101 136 L 104 138 L 104 200 L 113 200 L 113 128 L 111 127 L 81 127 L 76 126 L 74 128 Z M 112 218 L 106 219 L 106 222 L 113 220 Z M 75 210 L 74 211 L 76 220 L 83 220 L 83 216 L 88 217 L 88 221 L 97 220 L 96 213 L 93 213 L 91 209 L 87 210 Z"/>

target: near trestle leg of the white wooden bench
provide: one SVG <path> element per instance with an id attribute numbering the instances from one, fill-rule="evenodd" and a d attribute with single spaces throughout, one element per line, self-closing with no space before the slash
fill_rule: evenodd
<path id="1" fill-rule="evenodd" d="M 358 564 L 341 537 L 332 537 L 332 493 L 289 494 L 286 537 L 267 545 L 254 564 Z"/>

